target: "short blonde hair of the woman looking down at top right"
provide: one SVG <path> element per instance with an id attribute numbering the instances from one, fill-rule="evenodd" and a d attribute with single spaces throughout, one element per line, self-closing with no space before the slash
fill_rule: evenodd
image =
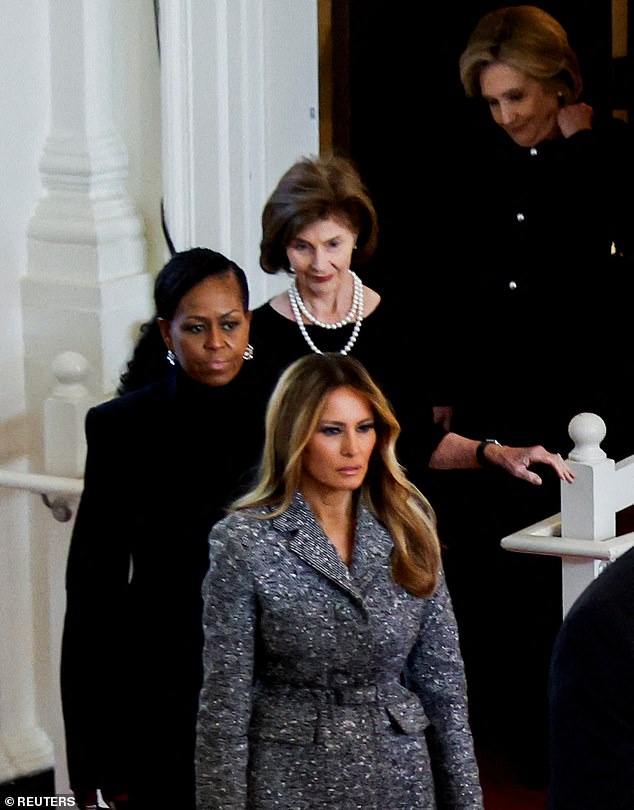
<path id="1" fill-rule="evenodd" d="M 469 98 L 481 95 L 483 68 L 497 63 L 551 87 L 566 104 L 576 101 L 583 89 L 566 31 L 537 6 L 507 6 L 480 19 L 460 56 L 460 79 Z"/>

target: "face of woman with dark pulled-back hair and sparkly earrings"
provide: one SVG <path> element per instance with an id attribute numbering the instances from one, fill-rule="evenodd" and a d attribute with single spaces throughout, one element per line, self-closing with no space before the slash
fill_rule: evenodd
<path id="1" fill-rule="evenodd" d="M 232 273 L 210 276 L 180 300 L 171 321 L 159 320 L 163 340 L 193 380 L 226 385 L 242 368 L 251 313 L 244 311 Z"/>

